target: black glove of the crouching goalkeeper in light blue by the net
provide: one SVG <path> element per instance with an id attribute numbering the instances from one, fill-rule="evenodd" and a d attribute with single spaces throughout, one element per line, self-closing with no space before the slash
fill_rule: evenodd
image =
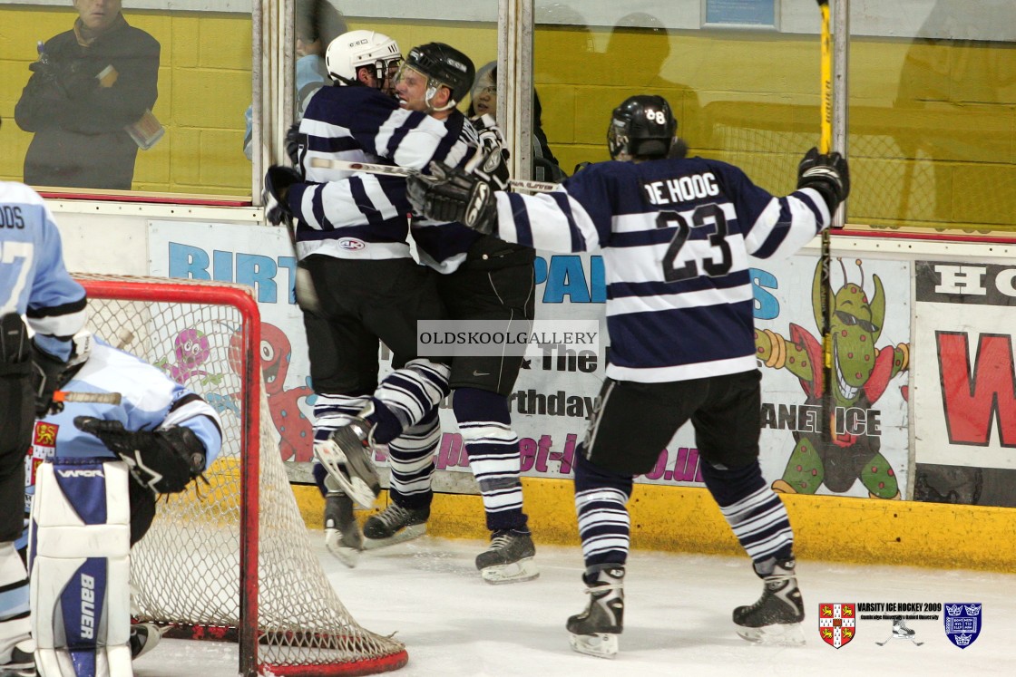
<path id="1" fill-rule="evenodd" d="M 205 450 L 190 428 L 132 432 L 120 421 L 77 416 L 74 426 L 99 437 L 127 464 L 130 474 L 153 493 L 183 491 L 204 470 Z"/>

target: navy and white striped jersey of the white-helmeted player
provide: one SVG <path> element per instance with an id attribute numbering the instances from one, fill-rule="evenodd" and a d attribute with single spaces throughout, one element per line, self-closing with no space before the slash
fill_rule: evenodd
<path id="1" fill-rule="evenodd" d="M 301 149 L 307 183 L 290 190 L 290 206 L 299 219 L 300 258 L 310 254 L 340 259 L 409 257 L 411 209 L 405 179 L 337 170 L 331 160 L 410 170 L 426 170 L 433 160 L 458 165 L 477 144 L 471 126 L 463 123 L 461 115 L 440 121 L 406 111 L 371 87 L 319 89 L 300 123 L 307 139 Z"/>

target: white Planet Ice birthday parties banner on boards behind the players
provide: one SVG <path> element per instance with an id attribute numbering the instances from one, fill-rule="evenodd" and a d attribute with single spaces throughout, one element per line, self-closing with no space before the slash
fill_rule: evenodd
<path id="1" fill-rule="evenodd" d="M 263 322 L 265 388 L 280 453 L 285 461 L 302 463 L 312 458 L 314 395 L 293 290 L 296 261 L 290 252 L 285 232 L 276 227 L 179 221 L 150 225 L 152 275 L 238 282 L 255 289 Z M 595 349 L 544 344 L 533 351 L 530 346 L 510 395 L 523 474 L 562 478 L 571 475 L 575 450 L 604 382 L 607 284 L 599 256 L 537 254 L 537 323 L 582 328 L 596 323 L 600 329 Z M 816 259 L 798 256 L 758 265 L 753 279 L 767 481 L 786 492 L 897 497 L 906 488 L 908 461 L 909 264 L 834 261 L 837 416 L 828 449 L 821 435 L 821 369 L 816 370 L 821 364 L 820 316 L 813 293 Z M 390 370 L 384 346 L 380 356 L 384 376 Z M 300 412 L 296 419 L 291 415 L 295 410 Z M 468 460 L 448 401 L 442 403 L 441 422 L 438 470 L 465 473 L 466 479 Z M 377 459 L 384 462 L 383 451 Z M 655 468 L 636 481 L 702 485 L 690 425 L 660 451 Z"/>

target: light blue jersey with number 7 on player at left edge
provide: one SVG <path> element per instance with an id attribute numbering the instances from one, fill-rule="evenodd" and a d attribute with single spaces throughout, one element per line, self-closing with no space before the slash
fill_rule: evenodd
<path id="1" fill-rule="evenodd" d="M 84 289 L 63 263 L 60 232 L 43 199 L 0 182 L 0 316 L 25 316 L 43 350 L 66 360 L 84 326 Z"/>

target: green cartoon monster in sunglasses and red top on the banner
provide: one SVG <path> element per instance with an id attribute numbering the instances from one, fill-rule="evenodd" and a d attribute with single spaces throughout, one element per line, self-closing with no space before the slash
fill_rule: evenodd
<path id="1" fill-rule="evenodd" d="M 847 280 L 842 260 L 843 279 Z M 868 410 L 885 393 L 889 382 L 909 364 L 909 345 L 876 347 L 886 316 L 885 290 L 873 275 L 875 295 L 869 300 L 860 284 L 845 282 L 834 294 L 832 333 L 833 401 L 836 411 Z M 822 326 L 819 295 L 821 263 L 812 281 L 812 310 L 816 327 Z M 831 290 L 830 290 L 831 291 Z M 789 339 L 768 329 L 755 330 L 758 358 L 770 368 L 785 368 L 801 381 L 806 404 L 820 405 L 825 390 L 822 342 L 803 327 L 790 324 Z M 903 388 L 904 398 L 906 389 Z M 834 415 L 835 416 L 835 415 Z M 781 479 L 772 483 L 782 493 L 815 493 L 823 484 L 833 492 L 847 491 L 859 478 L 872 497 L 898 498 L 899 483 L 892 466 L 881 454 L 878 435 L 851 434 L 832 421 L 831 443 L 818 431 L 795 431 L 793 451 Z"/>

